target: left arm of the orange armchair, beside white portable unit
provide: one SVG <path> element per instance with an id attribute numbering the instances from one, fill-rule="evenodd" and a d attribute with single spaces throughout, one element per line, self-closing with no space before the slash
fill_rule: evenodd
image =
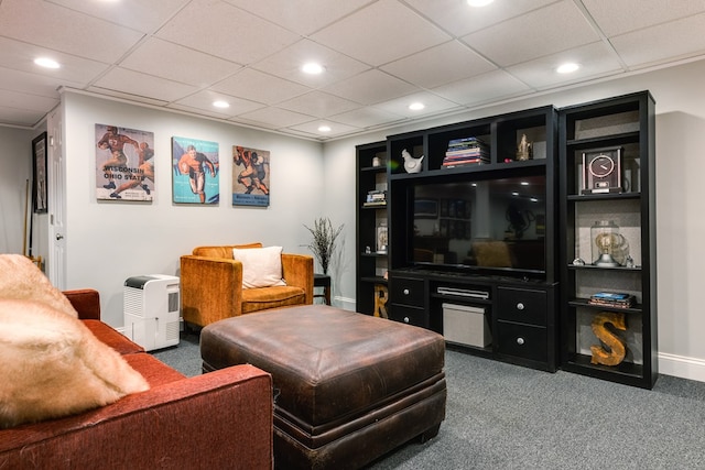
<path id="1" fill-rule="evenodd" d="M 202 327 L 241 315 L 242 263 L 225 258 L 181 256 L 181 302 L 184 320 Z"/>

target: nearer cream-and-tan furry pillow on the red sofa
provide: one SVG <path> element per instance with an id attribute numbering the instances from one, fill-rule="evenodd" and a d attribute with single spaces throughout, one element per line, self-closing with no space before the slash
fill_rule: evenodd
<path id="1" fill-rule="evenodd" d="M 149 384 L 88 327 L 42 302 L 0 299 L 0 428 L 105 406 Z"/>

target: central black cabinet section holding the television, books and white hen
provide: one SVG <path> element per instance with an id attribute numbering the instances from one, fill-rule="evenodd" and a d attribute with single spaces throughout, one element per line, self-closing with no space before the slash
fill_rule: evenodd
<path id="1" fill-rule="evenodd" d="M 555 371 L 552 106 L 390 135 L 389 316 Z"/>

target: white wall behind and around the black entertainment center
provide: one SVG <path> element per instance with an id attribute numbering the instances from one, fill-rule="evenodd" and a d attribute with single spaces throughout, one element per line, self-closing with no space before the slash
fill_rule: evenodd
<path id="1" fill-rule="evenodd" d="M 452 118 L 411 123 L 364 138 L 325 144 L 327 175 L 339 171 L 355 185 L 355 145 L 377 142 L 386 135 L 426 129 L 451 122 L 495 116 L 545 105 L 565 107 L 641 90 L 650 90 L 657 101 L 657 249 L 659 307 L 659 368 L 669 375 L 705 381 L 705 315 L 702 314 L 705 273 L 705 61 L 641 75 L 625 76 L 562 92 L 517 100 Z M 335 212 L 346 228 L 355 227 L 355 188 L 334 178 L 324 212 Z M 345 205 L 339 196 L 345 195 Z M 343 216 L 343 209 L 345 216 Z M 350 237 L 352 233 L 350 232 Z M 355 240 L 350 238 L 350 240 Z M 345 253 L 355 264 L 354 244 Z M 355 274 L 343 274 L 339 291 L 355 295 Z"/>

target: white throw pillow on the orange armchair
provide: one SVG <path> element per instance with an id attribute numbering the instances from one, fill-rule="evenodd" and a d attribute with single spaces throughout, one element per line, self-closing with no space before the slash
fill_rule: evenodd
<path id="1" fill-rule="evenodd" d="M 242 287 L 286 285 L 282 278 L 282 247 L 232 249 L 232 258 L 242 263 Z"/>

